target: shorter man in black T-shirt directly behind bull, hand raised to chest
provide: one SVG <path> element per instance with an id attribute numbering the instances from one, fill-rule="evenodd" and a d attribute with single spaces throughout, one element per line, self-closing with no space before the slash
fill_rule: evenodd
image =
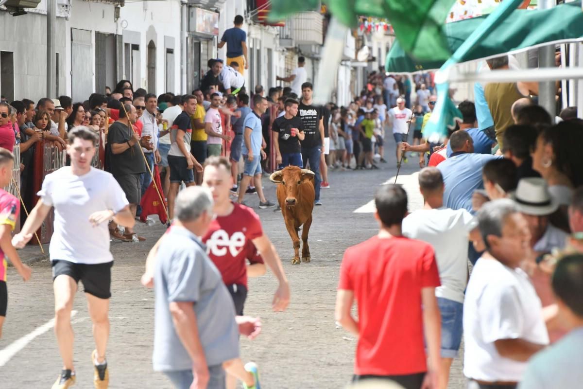
<path id="1" fill-rule="evenodd" d="M 304 124 L 297 117 L 298 102 L 287 99 L 285 102 L 285 114 L 278 117 L 271 127 L 277 135 L 273 135 L 275 145 L 276 162 L 278 169 L 286 166 L 304 167 L 301 160 L 300 141 L 305 138 Z"/>

